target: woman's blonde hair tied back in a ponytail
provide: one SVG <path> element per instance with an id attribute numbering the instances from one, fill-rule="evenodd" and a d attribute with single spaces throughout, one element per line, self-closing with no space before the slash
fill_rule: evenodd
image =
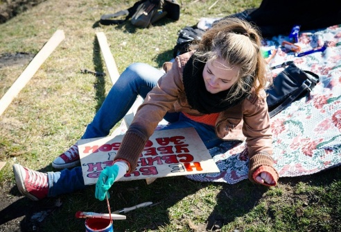
<path id="1" fill-rule="evenodd" d="M 195 50 L 195 57 L 202 62 L 221 58 L 229 65 L 240 68 L 239 78 L 234 83 L 232 98 L 254 88 L 256 94 L 267 84 L 266 63 L 261 54 L 261 35 L 255 26 L 235 17 L 221 19 L 202 36 L 202 40 L 193 42 L 190 50 Z M 251 88 L 247 78 L 254 78 Z M 228 100 L 228 99 L 227 99 Z"/>

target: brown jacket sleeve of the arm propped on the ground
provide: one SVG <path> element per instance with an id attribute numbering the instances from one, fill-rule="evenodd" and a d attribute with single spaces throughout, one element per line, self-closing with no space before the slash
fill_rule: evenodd
<path id="1" fill-rule="evenodd" d="M 279 178 L 277 170 L 274 169 L 272 158 L 272 132 L 270 129 L 270 116 L 268 105 L 265 101 L 265 92 L 261 97 L 249 97 L 247 101 L 254 101 L 247 104 L 243 115 L 243 133 L 246 137 L 249 153 L 249 179 L 253 183 L 259 170 L 266 170 L 274 178 L 275 183 Z"/>

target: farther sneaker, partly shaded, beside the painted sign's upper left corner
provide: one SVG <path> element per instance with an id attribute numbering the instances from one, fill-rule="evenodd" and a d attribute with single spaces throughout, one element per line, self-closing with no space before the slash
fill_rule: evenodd
<path id="1" fill-rule="evenodd" d="M 76 167 L 80 163 L 78 144 L 72 145 L 67 151 L 55 158 L 52 167 L 56 169 L 64 169 Z"/>

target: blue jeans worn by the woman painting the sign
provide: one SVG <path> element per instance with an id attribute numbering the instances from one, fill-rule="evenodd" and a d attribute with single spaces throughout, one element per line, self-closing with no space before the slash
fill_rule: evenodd
<path id="1" fill-rule="evenodd" d="M 128 113 L 137 96 L 140 95 L 144 99 L 148 92 L 157 85 L 157 81 L 163 74 L 164 72 L 161 72 L 161 70 L 144 63 L 134 63 L 125 69 L 107 94 L 92 122 L 87 125 L 82 139 L 109 135 L 115 124 Z M 171 124 L 163 130 L 193 127 L 200 135 L 207 149 L 222 142 L 216 136 L 214 126 L 194 122 L 182 113 L 167 113 L 164 119 Z M 70 170 L 63 169 L 61 172 L 48 172 L 48 176 L 49 197 L 86 187 L 81 167 L 74 167 Z"/>

